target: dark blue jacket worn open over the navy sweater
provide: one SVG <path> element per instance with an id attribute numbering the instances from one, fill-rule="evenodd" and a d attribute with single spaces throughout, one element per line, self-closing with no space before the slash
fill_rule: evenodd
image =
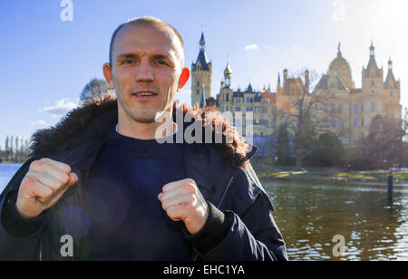
<path id="1" fill-rule="evenodd" d="M 0 196 L 0 216 L 6 198 L 18 191 L 34 159 L 44 157 L 71 166 L 79 178 L 63 197 L 45 212 L 45 222 L 33 235 L 11 236 L 0 222 L 0 260 L 81 260 L 86 244 L 73 240 L 73 257 L 61 255 L 61 236 L 81 231 L 83 216 L 74 214 L 83 207 L 83 189 L 90 169 L 102 148 L 103 133 L 117 122 L 115 101 L 93 103 L 77 109 L 55 128 L 34 137 L 34 152 L 11 179 Z M 255 148 L 247 154 L 249 159 Z M 257 175 L 248 164 L 237 168 L 212 144 L 185 144 L 185 166 L 203 197 L 233 219 L 227 236 L 206 254 L 190 247 L 191 260 L 287 260 L 283 237 L 274 221 L 272 204 Z M 234 155 L 234 154 L 233 154 Z M 236 154 L 237 155 L 237 154 Z M 228 157 L 227 157 L 228 158 Z M 63 214 L 73 209 L 71 215 Z"/>

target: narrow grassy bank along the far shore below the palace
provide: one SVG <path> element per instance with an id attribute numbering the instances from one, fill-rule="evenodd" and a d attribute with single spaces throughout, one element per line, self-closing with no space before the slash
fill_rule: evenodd
<path id="1" fill-rule="evenodd" d="M 251 164 L 258 178 L 337 180 L 337 181 L 386 181 L 388 170 L 350 171 L 342 168 L 302 168 L 277 167 L 265 161 L 252 160 Z M 408 171 L 393 173 L 394 181 L 408 181 Z"/>

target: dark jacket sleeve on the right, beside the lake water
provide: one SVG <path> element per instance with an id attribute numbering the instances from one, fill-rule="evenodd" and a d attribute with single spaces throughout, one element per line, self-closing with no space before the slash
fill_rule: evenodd
<path id="1" fill-rule="evenodd" d="M 285 242 L 271 214 L 273 207 L 250 172 L 251 167 L 235 175 L 225 206 L 219 208 L 230 224 L 228 233 L 219 245 L 199 254 L 202 260 L 287 260 Z"/>

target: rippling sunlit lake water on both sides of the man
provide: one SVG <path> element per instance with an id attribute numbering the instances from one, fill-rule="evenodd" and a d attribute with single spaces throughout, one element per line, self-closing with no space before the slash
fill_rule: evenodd
<path id="1" fill-rule="evenodd" d="M 0 164 L 0 190 L 21 164 Z M 408 260 L 408 183 L 261 179 L 290 260 Z M 335 256 L 337 242 L 345 252 Z M 338 251 L 338 249 L 335 249 Z"/>

